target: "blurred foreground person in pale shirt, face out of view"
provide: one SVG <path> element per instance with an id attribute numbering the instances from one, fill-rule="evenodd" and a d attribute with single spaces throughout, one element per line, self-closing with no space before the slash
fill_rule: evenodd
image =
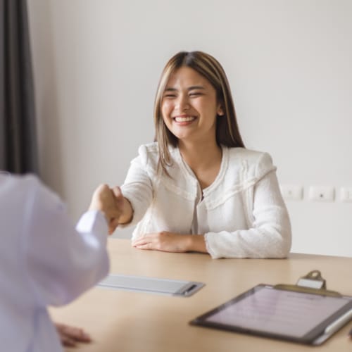
<path id="1" fill-rule="evenodd" d="M 99 186 L 75 226 L 58 196 L 33 175 L 0 173 L 1 351 L 56 352 L 89 341 L 81 329 L 51 322 L 47 306 L 73 301 L 108 274 L 108 233 L 120 213 Z"/>

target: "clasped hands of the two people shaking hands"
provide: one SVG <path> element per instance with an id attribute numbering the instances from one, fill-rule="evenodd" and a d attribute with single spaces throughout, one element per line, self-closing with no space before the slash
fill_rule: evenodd
<path id="1" fill-rule="evenodd" d="M 132 206 L 122 195 L 120 187 L 110 188 L 107 184 L 96 188 L 89 210 L 100 210 L 105 215 L 109 234 L 112 234 L 119 224 L 130 222 L 133 216 Z"/>

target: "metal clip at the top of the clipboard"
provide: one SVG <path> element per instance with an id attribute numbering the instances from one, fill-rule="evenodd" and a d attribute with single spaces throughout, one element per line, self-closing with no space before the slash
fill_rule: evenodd
<path id="1" fill-rule="evenodd" d="M 327 289 L 327 282 L 322 277 L 319 270 L 312 270 L 298 279 L 295 285 L 277 284 L 275 289 L 284 289 L 288 291 L 303 292 L 306 294 L 320 294 L 321 296 L 341 297 L 337 291 Z"/>

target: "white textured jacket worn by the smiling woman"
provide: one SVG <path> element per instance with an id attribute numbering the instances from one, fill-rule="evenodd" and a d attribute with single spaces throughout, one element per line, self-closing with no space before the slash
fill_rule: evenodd
<path id="1" fill-rule="evenodd" d="M 199 182 L 171 148 L 170 177 L 157 172 L 156 143 L 139 147 L 122 193 L 137 224 L 132 239 L 151 232 L 190 234 Z M 284 258 L 291 248 L 291 225 L 268 153 L 222 146 L 220 172 L 203 189 L 212 258 Z"/>

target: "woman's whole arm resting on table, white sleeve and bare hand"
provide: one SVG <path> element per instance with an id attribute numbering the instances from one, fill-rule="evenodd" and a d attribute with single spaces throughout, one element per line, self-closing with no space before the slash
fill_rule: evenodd
<path id="1" fill-rule="evenodd" d="M 284 258 L 291 247 L 291 225 L 275 172 L 254 188 L 253 224 L 249 230 L 176 234 L 145 234 L 132 242 L 137 249 L 170 252 L 197 251 L 212 258 Z"/>

